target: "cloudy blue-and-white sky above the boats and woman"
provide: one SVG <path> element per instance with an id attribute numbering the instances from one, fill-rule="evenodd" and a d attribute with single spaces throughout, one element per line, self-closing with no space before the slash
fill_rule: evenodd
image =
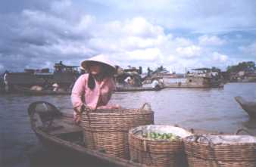
<path id="1" fill-rule="evenodd" d="M 256 60 L 254 0 L 8 0 L 0 3 L 0 72 L 115 64 L 199 67 Z"/>

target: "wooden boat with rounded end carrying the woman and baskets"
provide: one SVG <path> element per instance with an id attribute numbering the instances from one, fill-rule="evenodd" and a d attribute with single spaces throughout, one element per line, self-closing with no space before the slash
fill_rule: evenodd
<path id="1" fill-rule="evenodd" d="M 130 160 L 109 156 L 104 150 L 86 148 L 83 145 L 83 129 L 74 124 L 73 115 L 61 113 L 48 102 L 37 101 L 30 104 L 28 113 L 33 131 L 39 141 L 50 150 L 80 156 L 85 161 L 95 159 L 100 166 L 143 166 Z"/>

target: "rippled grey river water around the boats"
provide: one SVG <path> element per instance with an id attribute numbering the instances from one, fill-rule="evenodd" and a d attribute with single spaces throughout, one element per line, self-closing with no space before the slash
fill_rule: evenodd
<path id="1" fill-rule="evenodd" d="M 147 102 L 155 111 L 155 124 L 177 124 L 231 133 L 238 128 L 256 131 L 256 122 L 250 120 L 239 107 L 235 96 L 254 101 L 256 83 L 229 83 L 220 89 L 168 88 L 161 91 L 116 93 L 110 103 L 139 108 Z M 61 108 L 71 107 L 69 96 L 0 95 L 0 166 L 73 165 L 68 163 L 69 160 L 64 164 L 58 163 L 60 159 L 49 156 L 37 140 L 27 116 L 27 107 L 33 101 L 48 101 Z"/>

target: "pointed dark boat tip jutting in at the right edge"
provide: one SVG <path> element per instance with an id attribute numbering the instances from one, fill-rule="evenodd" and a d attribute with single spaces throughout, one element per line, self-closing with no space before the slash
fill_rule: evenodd
<path id="1" fill-rule="evenodd" d="M 245 101 L 245 99 L 243 99 L 240 96 L 235 97 L 235 99 L 240 104 L 242 109 L 245 110 L 245 112 L 248 113 L 248 115 L 251 118 L 256 119 L 256 102 L 254 102 L 254 101 Z"/>

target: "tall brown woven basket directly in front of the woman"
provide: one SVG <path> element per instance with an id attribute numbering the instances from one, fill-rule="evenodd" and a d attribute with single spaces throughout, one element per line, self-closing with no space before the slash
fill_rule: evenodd
<path id="1" fill-rule="evenodd" d="M 82 116 L 86 147 L 123 159 L 130 159 L 128 131 L 139 125 L 150 124 L 154 124 L 154 112 L 149 104 L 144 104 L 140 109 L 84 112 Z"/>

